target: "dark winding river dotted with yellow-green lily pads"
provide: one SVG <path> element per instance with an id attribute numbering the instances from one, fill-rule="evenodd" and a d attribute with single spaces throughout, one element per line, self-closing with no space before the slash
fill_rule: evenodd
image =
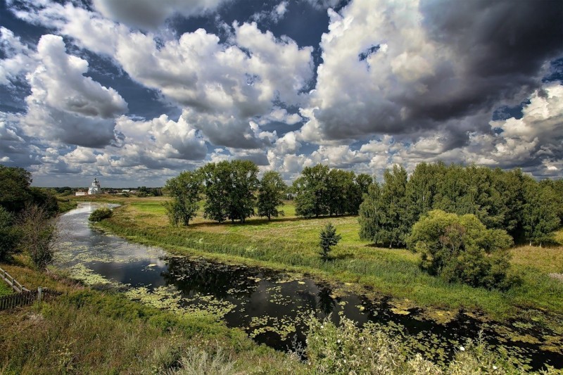
<path id="1" fill-rule="evenodd" d="M 426 319 L 421 311 L 403 310 L 388 300 L 333 291 L 303 276 L 265 269 L 222 265 L 203 259 L 169 256 L 89 227 L 97 206 L 80 204 L 61 217 L 65 240 L 57 265 L 72 277 L 99 288 L 118 288 L 134 300 L 178 314 L 213 314 L 227 326 L 244 329 L 258 343 L 278 350 L 305 345 L 311 315 L 338 323 L 346 317 L 358 325 L 374 322 L 399 338 L 411 354 L 445 364 L 467 338 L 483 331 L 495 350 L 507 350 L 524 369 L 545 364 L 563 368 L 562 341 L 557 333 L 533 322 L 481 322 L 460 312 L 445 324 Z"/>

